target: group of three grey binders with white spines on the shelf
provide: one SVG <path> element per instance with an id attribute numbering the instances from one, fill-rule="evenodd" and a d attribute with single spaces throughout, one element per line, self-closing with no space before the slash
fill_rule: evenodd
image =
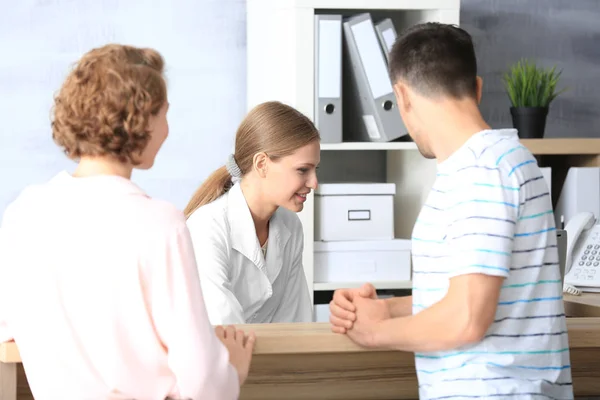
<path id="1" fill-rule="evenodd" d="M 387 68 L 396 37 L 389 18 L 374 24 L 369 13 L 315 15 L 315 123 L 323 143 L 407 135 Z"/>

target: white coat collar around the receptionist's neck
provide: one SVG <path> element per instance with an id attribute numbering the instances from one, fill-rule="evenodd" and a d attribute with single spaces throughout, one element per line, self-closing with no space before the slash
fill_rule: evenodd
<path id="1" fill-rule="evenodd" d="M 283 249 L 290 239 L 290 229 L 277 210 L 269 221 L 269 239 L 267 260 L 256 237 L 256 228 L 248 208 L 248 203 L 239 184 L 234 185 L 228 193 L 227 218 L 231 229 L 231 247 L 256 265 L 273 283 L 283 267 Z"/>

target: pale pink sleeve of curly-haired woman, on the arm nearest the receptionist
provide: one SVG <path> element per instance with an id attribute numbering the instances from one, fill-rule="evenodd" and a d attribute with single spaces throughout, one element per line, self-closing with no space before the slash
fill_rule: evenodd
<path id="1" fill-rule="evenodd" d="M 178 392 L 171 395 L 237 399 L 238 374 L 209 322 L 189 231 L 184 223 L 172 232 L 164 245 L 150 249 L 149 276 L 146 271 L 156 331 L 177 379 Z"/>

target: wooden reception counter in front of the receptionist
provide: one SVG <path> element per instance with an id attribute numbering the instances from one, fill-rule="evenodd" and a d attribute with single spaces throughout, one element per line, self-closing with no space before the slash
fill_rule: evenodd
<path id="1" fill-rule="evenodd" d="M 567 323 L 575 393 L 600 396 L 600 295 L 567 296 L 565 307 L 574 317 Z M 257 342 L 241 399 L 418 399 L 412 353 L 362 349 L 328 324 L 244 329 L 254 330 Z M 16 345 L 3 343 L 0 400 L 15 399 L 32 397 Z"/>

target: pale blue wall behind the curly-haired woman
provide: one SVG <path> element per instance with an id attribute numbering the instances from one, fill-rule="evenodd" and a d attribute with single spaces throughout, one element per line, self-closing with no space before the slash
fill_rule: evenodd
<path id="1" fill-rule="evenodd" d="M 0 215 L 24 186 L 73 168 L 52 142 L 52 96 L 71 63 L 107 42 L 154 47 L 166 60 L 171 134 L 134 181 L 183 208 L 224 163 L 246 107 L 245 1 L 2 3 Z"/>

